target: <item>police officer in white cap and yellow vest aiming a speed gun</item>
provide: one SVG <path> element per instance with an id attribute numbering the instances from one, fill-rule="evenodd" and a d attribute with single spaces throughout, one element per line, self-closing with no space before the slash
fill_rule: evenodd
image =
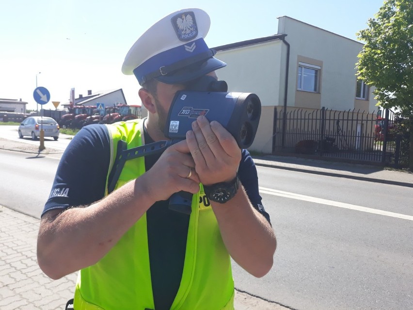
<path id="1" fill-rule="evenodd" d="M 76 310 L 233 309 L 230 258 L 255 277 L 272 266 L 275 235 L 254 162 L 207 115 L 162 154 L 126 161 L 108 189 L 119 141 L 131 149 L 165 140 L 175 93 L 226 65 L 204 41 L 209 25 L 206 12 L 188 9 L 143 33 L 122 71 L 141 84 L 148 117 L 86 126 L 64 152 L 37 256 L 53 279 L 80 270 Z M 191 214 L 168 208 L 180 191 L 193 194 Z"/>

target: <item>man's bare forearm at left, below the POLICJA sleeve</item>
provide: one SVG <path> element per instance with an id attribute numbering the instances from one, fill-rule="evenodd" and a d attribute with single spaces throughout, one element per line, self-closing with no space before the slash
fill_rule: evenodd
<path id="1" fill-rule="evenodd" d="M 85 208 L 47 212 L 37 242 L 41 269 L 57 279 L 99 261 L 154 203 L 142 181 L 130 181 Z"/>

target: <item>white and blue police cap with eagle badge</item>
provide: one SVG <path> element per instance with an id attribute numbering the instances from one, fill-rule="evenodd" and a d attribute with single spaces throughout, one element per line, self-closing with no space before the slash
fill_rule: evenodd
<path id="1" fill-rule="evenodd" d="M 122 72 L 134 74 L 141 85 L 150 79 L 179 84 L 224 67 L 204 41 L 209 25 L 209 16 L 201 9 L 163 17 L 129 49 Z"/>

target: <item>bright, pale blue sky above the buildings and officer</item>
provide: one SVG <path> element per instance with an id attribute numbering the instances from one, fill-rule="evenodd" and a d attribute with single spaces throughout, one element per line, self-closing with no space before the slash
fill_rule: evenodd
<path id="1" fill-rule="evenodd" d="M 46 87 L 65 103 L 87 90 L 123 88 L 128 104 L 141 104 L 139 84 L 121 66 L 138 37 L 179 9 L 198 7 L 211 18 L 210 48 L 277 33 L 279 16 L 356 40 L 383 0 L 1 0 L 0 98 L 29 102 Z M 41 74 L 38 74 L 41 72 Z M 40 108 L 40 106 L 39 106 Z"/>

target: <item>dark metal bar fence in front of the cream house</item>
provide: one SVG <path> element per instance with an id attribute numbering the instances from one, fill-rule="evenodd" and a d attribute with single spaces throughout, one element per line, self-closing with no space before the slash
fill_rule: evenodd
<path id="1" fill-rule="evenodd" d="M 329 109 L 275 108 L 274 154 L 301 154 L 380 164 L 396 164 L 400 141 L 392 134 L 395 114 Z"/>

